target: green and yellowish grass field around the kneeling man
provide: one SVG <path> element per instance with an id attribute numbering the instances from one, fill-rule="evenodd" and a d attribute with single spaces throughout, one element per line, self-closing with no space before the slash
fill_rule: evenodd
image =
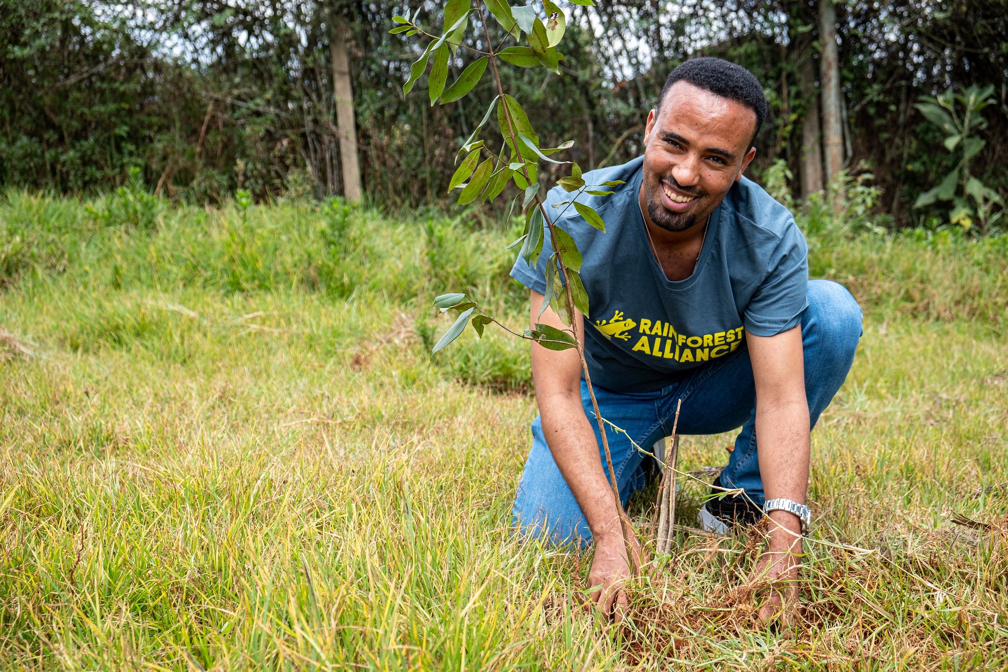
<path id="1" fill-rule="evenodd" d="M 524 344 L 427 356 L 436 293 L 523 323 L 513 231 L 99 207 L 0 203 L 0 667 L 1008 667 L 1004 240 L 812 238 L 866 325 L 812 435 L 802 616 L 754 625 L 751 546 L 682 533 L 614 628 L 590 554 L 508 534 Z"/>

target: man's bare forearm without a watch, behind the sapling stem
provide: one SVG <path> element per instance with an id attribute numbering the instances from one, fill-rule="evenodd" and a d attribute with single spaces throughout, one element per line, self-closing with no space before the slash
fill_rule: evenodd
<path id="1" fill-rule="evenodd" d="M 539 414 L 553 460 L 585 514 L 595 541 L 620 535 L 619 514 L 599 458 L 598 440 L 580 396 L 540 398 Z"/>

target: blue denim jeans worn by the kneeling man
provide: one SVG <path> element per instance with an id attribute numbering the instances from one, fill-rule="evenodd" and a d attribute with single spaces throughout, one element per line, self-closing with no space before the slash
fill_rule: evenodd
<path id="1" fill-rule="evenodd" d="M 829 280 L 810 280 L 807 294 L 808 307 L 801 314 L 801 345 L 808 415 L 814 427 L 851 370 L 862 333 L 861 308 L 850 292 Z M 698 367 L 682 380 L 656 392 L 623 393 L 596 387 L 595 397 L 602 417 L 627 432 L 619 433 L 609 426 L 606 431 L 624 505 L 631 493 L 645 485 L 642 462 L 646 455 L 634 448 L 630 439 L 649 450 L 655 441 L 671 434 L 679 399 L 679 434 L 717 434 L 742 427 L 728 466 L 721 474 L 721 485 L 741 488 L 753 502 L 763 503 L 757 459 L 756 387 L 748 349 L 740 348 Z M 581 398 L 601 456 L 602 437 L 584 380 Z M 518 485 L 512 516 L 512 525 L 532 536 L 582 545 L 592 541 L 588 521 L 543 437 L 540 417 L 532 421 L 532 449 Z"/>

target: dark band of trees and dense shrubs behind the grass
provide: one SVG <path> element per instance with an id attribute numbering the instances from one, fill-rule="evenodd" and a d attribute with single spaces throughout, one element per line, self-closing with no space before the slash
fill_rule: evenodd
<path id="1" fill-rule="evenodd" d="M 0 4 L 4 186 L 94 193 L 134 167 L 157 195 L 190 203 L 219 204 L 238 189 L 256 200 L 344 194 L 348 124 L 334 95 L 342 87 L 356 120 L 342 149 L 356 145 L 365 198 L 393 211 L 440 209 L 457 147 L 492 98 L 489 79 L 454 105 L 403 96 L 419 47 L 388 34 L 390 18 L 419 8 L 419 20 L 440 25 L 442 3 Z M 913 204 L 962 155 L 914 107 L 921 96 L 993 87 L 987 126 L 973 131 L 985 143 L 971 172 L 1008 196 L 1006 9 L 1003 0 L 565 5 L 561 75 L 505 69 L 504 86 L 540 134 L 575 140 L 570 158 L 589 169 L 642 152 L 647 111 L 672 68 L 723 56 L 765 87 L 771 115 L 751 172 L 775 181 L 775 195 L 822 189 L 839 143 L 847 173 L 870 175 L 862 181 L 877 189 L 867 200 L 877 226 L 933 228 L 955 219 L 952 204 Z M 831 25 L 837 35 L 824 40 Z M 823 50 L 832 42 L 835 63 Z M 823 95 L 834 75 L 836 99 Z M 830 137 L 831 127 L 840 135 Z"/>

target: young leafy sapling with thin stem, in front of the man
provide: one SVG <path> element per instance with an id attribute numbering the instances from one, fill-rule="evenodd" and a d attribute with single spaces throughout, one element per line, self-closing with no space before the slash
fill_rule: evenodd
<path id="1" fill-rule="evenodd" d="M 572 0 L 572 2 L 586 6 L 595 4 L 594 0 Z M 521 104 L 504 91 L 498 72 L 501 63 L 509 63 L 517 68 L 544 68 L 558 75 L 559 62 L 563 60 L 558 45 L 566 29 L 566 16 L 551 0 L 542 0 L 541 5 L 536 2 L 525 6 L 511 6 L 506 0 L 448 0 L 444 11 L 444 25 L 439 31 L 431 32 L 417 23 L 418 14 L 419 9 L 412 17 L 392 17 L 396 25 L 390 32 L 402 33 L 406 37 L 417 37 L 425 44 L 420 57 L 410 68 L 409 79 L 403 85 L 405 94 L 408 94 L 417 80 L 427 72 L 428 65 L 430 70 L 427 75 L 427 95 L 431 105 L 435 103 L 446 105 L 465 97 L 488 71 L 497 90 L 497 95 L 490 102 L 490 107 L 487 108 L 483 118 L 459 149 L 458 156 L 461 161 L 449 179 L 449 191 L 458 189 L 459 203 L 465 205 L 477 199 L 492 200 L 506 189 L 513 189 L 514 204 L 520 201 L 525 213 L 525 232 L 508 247 L 520 245 L 519 254 L 530 265 L 538 263 L 541 255 L 548 255 L 545 264 L 546 293 L 539 315 L 541 316 L 546 306 L 549 306 L 568 326 L 565 329 L 558 329 L 549 324 L 535 323 L 533 327 L 519 333 L 484 312 L 476 301 L 466 294 L 442 294 L 434 299 L 434 307 L 442 312 L 452 312 L 457 317 L 445 335 L 434 345 L 433 353 L 455 341 L 470 323 L 477 335 L 482 337 L 484 328 L 491 322 L 549 350 L 562 351 L 574 348 L 581 358 L 582 372 L 588 384 L 595 417 L 601 418 L 592 387 L 592 377 L 585 359 L 584 343 L 573 326 L 576 310 L 581 311 L 586 317 L 589 315 L 588 293 L 581 278 L 582 255 L 571 232 L 559 227 L 556 222 L 568 209 L 574 208 L 587 225 L 605 231 L 605 223 L 598 212 L 587 204 L 579 201 L 578 198 L 583 194 L 610 195 L 613 191 L 608 187 L 623 182 L 617 180 L 588 184 L 577 163 L 553 158 L 555 154 L 572 147 L 574 142 L 563 142 L 555 147 L 543 146 Z M 497 46 L 494 46 L 488 16 L 490 20 L 496 21 L 505 33 L 504 40 Z M 463 44 L 463 37 L 471 25 L 480 35 L 480 39 L 474 43 L 482 44 L 483 48 Z M 507 42 L 513 43 L 506 45 Z M 462 71 L 459 79 L 446 88 L 450 61 L 454 60 L 457 64 L 461 64 L 469 55 L 473 56 L 472 60 Z M 484 133 L 491 119 L 497 122 L 499 138 L 493 137 L 489 131 Z M 538 180 L 540 162 L 571 166 L 570 174 L 557 180 L 557 184 L 571 194 L 566 200 L 554 205 L 554 208 L 559 209 L 557 213 L 547 212 L 546 204 L 540 194 Z M 544 250 L 546 230 L 549 231 L 549 249 Z M 629 543 L 630 535 L 634 532 L 620 503 L 619 487 L 604 422 L 600 422 L 599 428 L 602 434 L 605 466 L 609 471 L 613 498 L 622 521 L 624 542 Z M 627 556 L 634 558 L 634 553 L 629 547 Z M 633 567 L 634 572 L 638 569 Z"/>

